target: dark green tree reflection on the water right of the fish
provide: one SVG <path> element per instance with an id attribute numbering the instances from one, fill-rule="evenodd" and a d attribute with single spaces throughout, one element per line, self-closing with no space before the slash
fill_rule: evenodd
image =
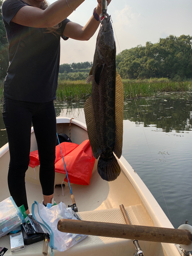
<path id="1" fill-rule="evenodd" d="M 131 100 L 124 103 L 124 120 L 131 120 L 144 127 L 155 125 L 163 132 L 191 130 L 192 95 L 166 94 L 157 98 Z"/>

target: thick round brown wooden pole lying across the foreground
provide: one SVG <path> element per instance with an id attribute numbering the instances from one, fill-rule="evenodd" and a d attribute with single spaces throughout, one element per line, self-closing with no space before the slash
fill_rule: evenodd
<path id="1" fill-rule="evenodd" d="M 57 228 L 61 232 L 87 234 L 90 236 L 124 238 L 181 245 L 190 245 L 192 243 L 192 234 L 185 229 L 68 219 L 59 220 Z"/>

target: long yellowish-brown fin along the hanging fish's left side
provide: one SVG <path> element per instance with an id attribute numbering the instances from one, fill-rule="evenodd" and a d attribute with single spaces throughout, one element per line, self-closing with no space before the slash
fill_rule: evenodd
<path id="1" fill-rule="evenodd" d="M 93 156 L 97 159 L 101 154 L 101 149 L 97 144 L 97 131 L 96 131 L 92 97 L 89 97 L 84 103 L 84 115 L 86 117 L 88 136 L 89 136 L 89 141 L 92 148 Z"/>

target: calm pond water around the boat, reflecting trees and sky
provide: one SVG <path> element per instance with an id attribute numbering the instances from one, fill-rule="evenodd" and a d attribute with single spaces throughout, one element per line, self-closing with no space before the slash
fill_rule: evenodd
<path id="1" fill-rule="evenodd" d="M 84 103 L 55 102 L 57 116 L 85 123 Z M 3 105 L 0 104 L 2 112 Z M 192 94 L 124 102 L 124 158 L 150 189 L 175 228 L 192 224 Z M 0 147 L 7 143 L 0 116 Z M 127 195 L 131 196 L 131 195 Z"/>

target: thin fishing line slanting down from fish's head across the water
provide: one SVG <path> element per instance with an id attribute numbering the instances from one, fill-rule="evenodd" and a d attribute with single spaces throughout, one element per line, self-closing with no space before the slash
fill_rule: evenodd
<path id="1" fill-rule="evenodd" d="M 114 27 L 114 24 L 113 24 L 112 17 L 111 17 L 111 22 L 112 22 L 112 25 L 113 25 L 113 30 L 114 30 L 116 39 L 117 39 L 117 44 L 118 44 L 118 47 L 119 47 L 119 50 L 120 50 L 120 53 L 121 53 L 122 51 L 121 51 L 121 48 L 120 48 L 120 45 L 119 45 L 119 40 L 118 40 L 116 31 L 115 31 L 115 27 Z M 125 72 L 126 72 L 127 78 L 128 78 L 128 80 L 129 80 L 129 84 L 130 84 L 131 92 L 132 92 L 132 95 L 133 95 L 133 98 L 134 98 L 134 102 L 135 102 L 135 106 L 136 106 L 137 113 L 138 113 L 138 116 L 139 116 L 139 120 L 140 120 L 140 122 L 142 123 L 141 117 L 140 117 L 140 114 L 139 114 L 139 110 L 138 110 L 138 106 L 137 106 L 137 103 L 136 103 L 136 99 L 135 99 L 135 97 L 134 97 L 133 88 L 132 88 L 132 86 L 131 86 L 131 82 L 130 82 L 130 79 L 129 79 L 129 75 L 128 75 L 128 72 L 127 72 L 127 68 L 126 68 L 126 66 L 125 66 L 124 58 L 123 58 L 123 65 L 124 65 L 124 68 L 125 68 Z M 146 140 L 146 143 L 147 143 L 147 146 L 148 146 L 148 150 L 149 150 L 149 152 L 150 152 L 151 159 L 152 159 L 152 163 L 153 163 L 153 157 L 152 157 L 152 153 L 151 153 L 151 150 L 150 150 L 150 145 L 148 144 L 147 137 L 146 137 L 146 134 L 145 134 L 143 125 L 142 125 L 142 129 L 143 129 L 143 133 L 144 133 L 144 136 L 145 136 L 145 140 Z M 154 165 L 154 163 L 153 163 L 153 165 Z M 155 166 L 154 166 L 154 167 L 155 167 Z M 155 170 L 156 170 L 156 169 L 155 169 Z M 162 189 L 162 186 L 161 186 L 161 182 L 160 182 L 160 179 L 159 179 L 159 175 L 158 175 L 157 172 L 156 172 L 156 174 L 157 174 L 158 181 L 159 181 L 159 185 L 160 185 L 161 192 L 162 192 L 162 195 L 163 195 L 163 200 L 164 200 L 164 202 L 165 202 L 165 206 L 166 206 L 166 209 L 167 209 L 167 212 L 168 212 L 169 220 L 170 220 L 170 222 L 172 223 L 172 219 L 170 218 L 169 210 L 168 210 L 168 207 L 167 207 L 167 204 L 166 204 L 166 200 L 165 200 L 165 197 L 164 197 L 164 194 L 163 194 L 163 189 Z"/>

